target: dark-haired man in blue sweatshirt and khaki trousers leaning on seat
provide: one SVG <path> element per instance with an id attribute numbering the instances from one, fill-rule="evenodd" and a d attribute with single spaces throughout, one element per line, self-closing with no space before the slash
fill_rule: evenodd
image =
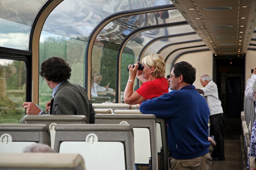
<path id="1" fill-rule="evenodd" d="M 143 101 L 140 111 L 167 118 L 169 169 L 210 170 L 212 158 L 208 147 L 209 107 L 192 84 L 196 69 L 181 61 L 172 66 L 170 89 L 160 97 Z"/>

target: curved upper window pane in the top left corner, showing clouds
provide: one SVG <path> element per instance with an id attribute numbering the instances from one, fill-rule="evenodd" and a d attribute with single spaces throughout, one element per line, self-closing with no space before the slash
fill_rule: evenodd
<path id="1" fill-rule="evenodd" d="M 0 46 L 29 50 L 31 26 L 47 0 L 0 1 Z"/>

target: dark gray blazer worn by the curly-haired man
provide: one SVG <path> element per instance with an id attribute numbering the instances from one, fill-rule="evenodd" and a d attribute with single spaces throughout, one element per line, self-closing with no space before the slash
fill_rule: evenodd
<path id="1" fill-rule="evenodd" d="M 89 123 L 95 121 L 95 111 L 85 89 L 78 84 L 71 84 L 69 81 L 61 83 L 58 87 L 50 110 L 50 114 L 85 115 Z M 41 114 L 47 113 L 42 112 Z"/>

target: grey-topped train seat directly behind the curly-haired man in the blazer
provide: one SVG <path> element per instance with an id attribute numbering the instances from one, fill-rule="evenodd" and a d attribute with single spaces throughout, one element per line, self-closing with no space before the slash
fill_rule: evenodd
<path id="1" fill-rule="evenodd" d="M 27 115 L 25 124 L 46 124 L 49 126 L 51 134 L 51 148 L 54 147 L 55 126 L 57 124 L 86 124 L 88 123 L 85 115 Z"/>

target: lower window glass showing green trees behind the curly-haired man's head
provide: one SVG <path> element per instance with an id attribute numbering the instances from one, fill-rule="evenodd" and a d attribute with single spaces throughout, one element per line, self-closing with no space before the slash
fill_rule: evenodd
<path id="1" fill-rule="evenodd" d="M 39 42 L 39 72 L 43 61 L 51 57 L 61 57 L 72 69 L 69 81 L 84 87 L 85 47 L 86 42 L 42 31 Z M 52 89 L 39 75 L 39 106 L 45 109 L 51 95 Z"/>

